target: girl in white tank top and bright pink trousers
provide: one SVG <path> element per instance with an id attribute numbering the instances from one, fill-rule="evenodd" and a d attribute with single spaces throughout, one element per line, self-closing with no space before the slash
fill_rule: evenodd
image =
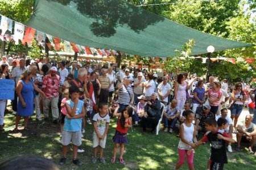
<path id="1" fill-rule="evenodd" d="M 178 144 L 179 161 L 175 169 L 179 169 L 184 164 L 185 155 L 187 155 L 187 162 L 189 169 L 195 169 L 193 164 L 193 148 L 197 142 L 196 139 L 196 126 L 193 125 L 194 114 L 192 110 L 183 111 L 185 117 L 184 123 L 180 125 L 180 141 Z"/>

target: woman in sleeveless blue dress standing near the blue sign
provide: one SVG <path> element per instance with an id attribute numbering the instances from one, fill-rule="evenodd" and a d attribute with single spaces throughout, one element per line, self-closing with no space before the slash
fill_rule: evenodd
<path id="1" fill-rule="evenodd" d="M 34 113 L 34 89 L 36 92 L 39 92 L 44 96 L 44 92 L 31 81 L 31 78 L 31 71 L 24 71 L 16 86 L 16 91 L 19 98 L 14 130 L 18 129 L 18 123 L 21 117 L 24 117 L 24 130 L 27 130 L 28 117 Z"/>

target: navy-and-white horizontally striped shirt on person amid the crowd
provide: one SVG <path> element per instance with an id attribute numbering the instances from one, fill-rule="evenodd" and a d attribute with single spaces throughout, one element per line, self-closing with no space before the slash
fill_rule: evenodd
<path id="1" fill-rule="evenodd" d="M 126 88 L 125 85 L 122 85 L 122 88 L 119 89 L 118 103 L 122 105 L 129 105 L 132 96 L 133 88 L 131 88 L 131 86 L 127 86 Z"/>

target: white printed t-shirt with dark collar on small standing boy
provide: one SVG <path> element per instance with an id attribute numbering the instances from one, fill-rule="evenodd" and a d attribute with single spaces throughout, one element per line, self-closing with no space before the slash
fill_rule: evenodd
<path id="1" fill-rule="evenodd" d="M 108 114 L 106 114 L 105 117 L 101 117 L 100 113 L 97 113 L 93 116 L 93 122 L 96 122 L 98 132 L 103 135 L 106 129 L 106 124 L 110 123 L 110 118 Z"/>

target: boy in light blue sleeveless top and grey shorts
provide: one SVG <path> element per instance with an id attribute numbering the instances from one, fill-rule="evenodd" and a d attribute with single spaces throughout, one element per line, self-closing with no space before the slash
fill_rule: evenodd
<path id="1" fill-rule="evenodd" d="M 77 159 L 78 147 L 82 144 L 81 139 L 81 126 L 82 118 L 85 117 L 84 102 L 79 100 L 80 90 L 76 86 L 69 88 L 69 99 L 65 103 L 67 109 L 67 115 L 64 119 L 64 128 L 61 138 L 62 147 L 62 157 L 60 159 L 60 165 L 66 163 L 66 156 L 68 151 L 68 144 L 72 142 L 73 146 L 73 163 L 75 165 L 81 166 L 82 163 Z"/>

